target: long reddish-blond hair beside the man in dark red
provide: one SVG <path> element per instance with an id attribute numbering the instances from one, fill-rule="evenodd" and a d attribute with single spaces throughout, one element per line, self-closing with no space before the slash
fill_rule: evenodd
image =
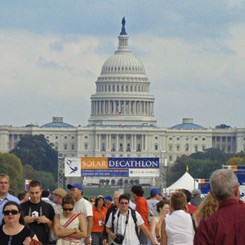
<path id="1" fill-rule="evenodd" d="M 205 221 L 218 209 L 218 201 L 208 193 L 205 199 L 201 202 L 196 212 L 194 213 L 195 219 Z"/>

